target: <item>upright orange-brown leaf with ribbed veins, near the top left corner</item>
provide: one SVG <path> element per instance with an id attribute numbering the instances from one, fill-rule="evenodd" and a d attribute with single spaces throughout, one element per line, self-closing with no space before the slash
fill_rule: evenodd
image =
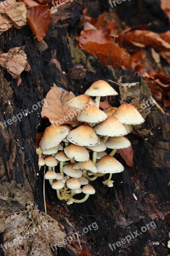
<path id="1" fill-rule="evenodd" d="M 26 15 L 27 23 L 37 40 L 45 38 L 46 32 L 51 23 L 49 6 L 32 6 L 28 8 Z"/>

